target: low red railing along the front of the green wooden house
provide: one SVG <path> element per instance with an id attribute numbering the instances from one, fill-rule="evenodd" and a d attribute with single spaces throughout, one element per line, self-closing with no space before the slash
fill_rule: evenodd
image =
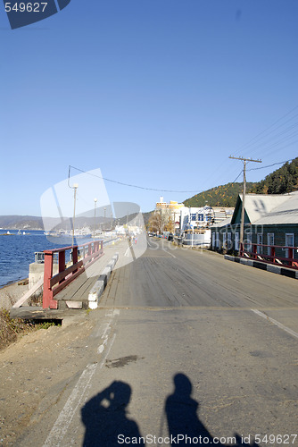
<path id="1" fill-rule="evenodd" d="M 287 250 L 288 256 L 277 256 L 277 249 Z M 275 264 L 277 266 L 286 266 L 298 269 L 298 258 L 294 258 L 294 252 L 297 250 L 298 247 L 284 247 L 280 245 L 265 245 L 248 242 L 240 244 L 240 257 L 250 257 L 267 264 Z M 264 253 L 264 251 L 267 251 L 267 253 Z"/>

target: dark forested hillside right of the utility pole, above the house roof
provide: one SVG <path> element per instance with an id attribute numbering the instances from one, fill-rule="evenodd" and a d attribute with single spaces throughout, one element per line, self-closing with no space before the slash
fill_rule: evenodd
<path id="1" fill-rule="evenodd" d="M 298 190 L 298 156 L 287 162 L 264 180 L 254 183 L 249 192 L 256 194 L 285 194 Z"/>

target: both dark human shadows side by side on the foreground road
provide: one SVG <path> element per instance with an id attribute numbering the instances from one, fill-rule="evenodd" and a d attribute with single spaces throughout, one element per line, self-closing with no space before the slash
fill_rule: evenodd
<path id="1" fill-rule="evenodd" d="M 128 418 L 128 403 L 131 396 L 131 387 L 124 382 L 112 382 L 112 384 L 99 392 L 86 403 L 81 410 L 81 416 L 86 433 L 84 447 L 114 447 L 120 444 L 145 445 L 145 442 L 153 445 L 166 443 L 168 445 L 217 445 L 227 447 L 228 444 L 219 442 L 213 438 L 203 422 L 197 416 L 199 403 L 191 397 L 192 384 L 184 374 L 174 376 L 175 389 L 165 401 L 165 417 L 168 425 L 168 435 L 140 434 L 137 423 Z M 162 431 L 164 415 L 161 418 Z M 258 444 L 244 443 L 238 434 L 235 434 L 234 446 Z"/>

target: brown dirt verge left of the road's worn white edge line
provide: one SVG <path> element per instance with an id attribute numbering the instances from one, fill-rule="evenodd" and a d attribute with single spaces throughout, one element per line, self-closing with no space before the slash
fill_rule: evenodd
<path id="1" fill-rule="evenodd" d="M 24 335 L 0 351 L 0 445 L 16 445 L 23 431 L 42 417 L 76 372 L 86 367 L 94 313 L 79 311 L 62 326 Z"/>

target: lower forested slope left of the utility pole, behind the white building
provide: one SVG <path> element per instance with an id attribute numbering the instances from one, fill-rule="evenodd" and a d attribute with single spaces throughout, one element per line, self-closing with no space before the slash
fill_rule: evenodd
<path id="1" fill-rule="evenodd" d="M 247 182 L 246 188 L 250 190 L 253 183 Z M 243 183 L 227 183 L 196 194 L 184 201 L 186 207 L 235 207 L 238 194 L 242 193 Z M 206 204 L 207 202 L 207 204 Z"/>

